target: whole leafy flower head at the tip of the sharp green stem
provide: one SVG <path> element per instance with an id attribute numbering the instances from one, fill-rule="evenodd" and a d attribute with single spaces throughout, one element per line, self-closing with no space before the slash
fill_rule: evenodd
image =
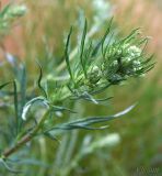
<path id="1" fill-rule="evenodd" d="M 86 47 L 83 42 L 86 32 L 85 22 L 80 45 L 82 53 L 78 59 L 78 65 L 71 69 L 67 62 L 71 78 L 68 81 L 68 88 L 76 97 L 90 98 L 91 94 L 101 92 L 111 85 L 117 85 L 129 77 L 144 75 L 154 65 L 153 63 L 150 64 L 151 57 L 146 56 L 143 50 L 141 50 L 141 46 L 147 44 L 148 38 L 139 38 L 138 29 L 125 38 L 116 41 L 112 36 L 106 38 L 107 31 L 97 50 L 93 45 Z M 94 51 L 96 53 L 92 54 Z"/>

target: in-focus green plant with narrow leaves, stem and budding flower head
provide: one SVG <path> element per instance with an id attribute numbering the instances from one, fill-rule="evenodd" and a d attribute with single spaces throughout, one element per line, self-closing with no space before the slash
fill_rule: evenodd
<path id="1" fill-rule="evenodd" d="M 134 106 L 130 106 L 123 112 L 109 117 L 76 118 L 72 120 L 63 118 L 61 122 L 58 119 L 62 112 L 66 116 L 74 113 L 76 117 L 80 117 L 73 109 L 77 100 L 83 99 L 99 105 L 111 98 L 97 98 L 105 89 L 114 85 L 120 85 L 130 77 L 143 76 L 153 67 L 154 64 L 151 63 L 152 56 L 144 54 L 148 38 L 139 37 L 139 30 L 137 29 L 127 37 L 116 40 L 111 30 L 112 21 L 108 21 L 105 34 L 96 43 L 86 36 L 88 22 L 85 20 L 82 35 L 77 46 L 79 52 L 73 57 L 69 56 L 69 51 L 72 51 L 70 47 L 71 28 L 65 46 L 66 69 L 59 69 L 56 73 L 56 80 L 55 77 L 48 78 L 48 76 L 44 76 L 43 68 L 38 64 L 39 76 L 36 81 L 35 92 L 26 94 L 25 67 L 19 65 L 16 59 L 10 55 L 19 73 L 16 79 L 0 86 L 2 100 L 5 105 L 10 103 L 11 112 L 13 113 L 14 111 L 15 113 L 15 119 L 11 121 L 13 123 L 12 142 L 5 142 L 10 147 L 3 150 L 5 148 L 4 145 L 1 148 L 0 162 L 9 170 L 15 172 L 8 166 L 9 156 L 18 152 L 35 136 L 43 134 L 56 140 L 58 133 L 63 133 L 67 130 L 103 130 L 107 125 L 99 124 L 119 118 L 134 108 Z M 20 73 L 21 75 L 19 75 Z M 8 91 L 2 91 L 9 86 L 12 86 L 12 88 Z M 11 97 L 13 97 L 13 102 L 10 101 Z M 37 111 L 40 111 L 40 113 L 37 114 Z M 93 147 L 97 147 L 97 145 L 95 144 Z"/>

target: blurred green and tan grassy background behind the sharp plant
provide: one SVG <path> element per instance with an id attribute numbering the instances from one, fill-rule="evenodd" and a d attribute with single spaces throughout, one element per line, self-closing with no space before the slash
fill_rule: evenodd
<path id="1" fill-rule="evenodd" d="M 1 7 L 8 3 L 1 0 Z M 25 3 L 27 14 L 1 40 L 3 48 L 26 64 L 28 85 L 37 75 L 38 58 L 46 75 L 62 62 L 63 42 L 71 24 L 80 29 L 85 15 L 89 30 L 97 28 L 94 37 L 105 29 L 106 20 L 114 16 L 114 30 L 119 36 L 141 28 L 151 36 L 148 53 L 154 53 L 155 67 L 146 78 L 130 80 L 113 87 L 106 95 L 114 99 L 104 106 L 79 103 L 82 114 L 111 114 L 138 102 L 137 107 L 119 120 L 112 121 L 105 131 L 74 131 L 58 136 L 60 143 L 39 139 L 32 143 L 26 157 L 35 162 L 22 163 L 24 175 L 34 176 L 129 176 L 143 175 L 143 170 L 162 170 L 162 1 L 161 0 L 15 0 Z M 102 24 L 103 22 L 103 24 Z M 101 30 L 100 30 L 101 29 Z M 74 32 L 73 43 L 77 38 Z M 3 52 L 0 61 L 5 63 Z M 7 74 L 8 72 L 8 74 Z M 1 72 L 2 79 L 13 77 L 10 66 Z M 28 86 L 30 89 L 30 86 Z M 81 145 L 86 147 L 82 152 Z M 36 161 L 42 161 L 36 162 Z M 30 168 L 30 169 L 28 169 Z M 138 169 L 142 170 L 141 173 Z M 158 173 L 160 175 L 160 172 Z M 153 175 L 153 174 L 152 174 Z"/>

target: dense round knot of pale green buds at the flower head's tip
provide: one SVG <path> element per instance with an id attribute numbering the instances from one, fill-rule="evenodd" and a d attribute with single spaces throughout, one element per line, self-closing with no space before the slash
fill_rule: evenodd
<path id="1" fill-rule="evenodd" d="M 118 84 L 130 76 L 143 74 L 142 51 L 136 45 L 112 44 L 102 66 L 104 76 L 112 84 Z"/>

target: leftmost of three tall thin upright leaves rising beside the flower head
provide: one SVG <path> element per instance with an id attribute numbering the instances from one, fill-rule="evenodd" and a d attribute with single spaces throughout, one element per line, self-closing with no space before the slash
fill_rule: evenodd
<path id="1" fill-rule="evenodd" d="M 72 81 L 74 81 L 73 75 L 72 75 L 72 72 L 71 72 L 71 67 L 70 67 L 69 54 L 68 54 L 68 48 L 69 48 L 71 33 L 72 33 L 72 26 L 70 28 L 70 32 L 69 32 L 68 37 L 67 37 L 66 50 L 65 50 L 65 57 L 66 57 L 66 64 L 67 64 L 67 68 L 68 68 L 70 78 L 72 79 Z"/>

